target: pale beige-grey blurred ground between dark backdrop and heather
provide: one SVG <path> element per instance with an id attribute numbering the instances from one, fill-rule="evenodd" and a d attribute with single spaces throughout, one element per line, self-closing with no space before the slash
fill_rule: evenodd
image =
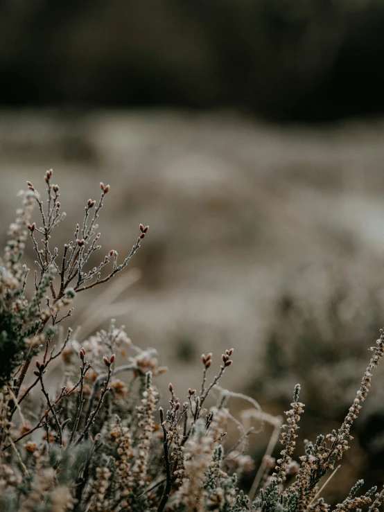
<path id="1" fill-rule="evenodd" d="M 91 321 L 89 296 L 78 297 L 80 339 L 116 317 L 136 344 L 159 349 L 172 367 L 159 382 L 171 379 L 180 395 L 186 383 L 198 386 L 200 353 L 212 351 L 217 362 L 234 346 L 223 385 L 277 413 L 299 380 L 309 402 L 304 435 L 320 410 L 327 430 L 354 398 L 383 324 L 383 135 L 382 122 L 304 130 L 230 113 L 3 112 L 1 237 L 17 191 L 26 179 L 42 191 L 46 168 L 68 214 L 58 247 L 98 182 L 110 183 L 105 254 L 113 248 L 123 258 L 139 222 L 150 231 Z M 127 288 L 133 269 L 141 279 Z M 383 369 L 374 380 L 376 399 L 361 421 L 383 414 Z M 384 450 L 380 419 L 371 423 L 348 480 Z"/>

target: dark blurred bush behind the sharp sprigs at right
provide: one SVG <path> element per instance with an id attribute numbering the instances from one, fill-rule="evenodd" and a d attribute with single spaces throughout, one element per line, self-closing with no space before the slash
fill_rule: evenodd
<path id="1" fill-rule="evenodd" d="M 278 408 L 286 403 L 292 382 L 299 380 L 307 404 L 300 428 L 306 439 L 312 439 L 314 425 L 319 430 L 324 425 L 333 428 L 349 408 L 356 376 L 367 357 L 367 339 L 375 337 L 375 324 L 383 324 L 382 274 L 374 267 L 359 270 L 355 266 L 347 271 L 311 265 L 288 281 L 274 304 L 260 370 L 246 391 L 263 396 L 268 407 Z M 304 292 L 304 281 L 312 293 L 308 288 Z M 384 457 L 382 372 L 376 384 L 378 394 L 356 423 L 353 435 L 357 446 L 349 464 L 354 468 L 351 473 L 358 468 L 380 484 Z M 337 494 L 340 482 L 334 486 Z"/>

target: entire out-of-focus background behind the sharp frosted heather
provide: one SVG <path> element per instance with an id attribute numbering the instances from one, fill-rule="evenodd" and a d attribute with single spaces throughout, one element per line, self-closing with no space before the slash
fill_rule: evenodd
<path id="1" fill-rule="evenodd" d="M 233 346 L 223 386 L 282 414 L 300 382 L 302 440 L 338 428 L 384 326 L 384 3 L 3 0 L 0 28 L 1 240 L 48 168 L 59 247 L 101 180 L 103 251 L 150 225 L 80 338 L 116 317 L 181 399 Z M 383 367 L 373 391 L 332 503 L 383 483 Z"/>

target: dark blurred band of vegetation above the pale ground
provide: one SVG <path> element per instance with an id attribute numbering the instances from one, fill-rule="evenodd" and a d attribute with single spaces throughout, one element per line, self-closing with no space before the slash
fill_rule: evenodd
<path id="1" fill-rule="evenodd" d="M 384 110 L 378 0 L 5 0 L 3 105 Z"/>

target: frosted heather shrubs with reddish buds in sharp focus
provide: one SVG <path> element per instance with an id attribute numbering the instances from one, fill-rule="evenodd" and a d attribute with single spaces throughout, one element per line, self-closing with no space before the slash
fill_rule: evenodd
<path id="1" fill-rule="evenodd" d="M 6 512 L 323 512 L 327 475 L 349 448 L 351 425 L 367 398 L 372 371 L 384 353 L 384 331 L 356 398 L 338 430 L 306 441 L 293 459 L 300 416 L 300 387 L 282 425 L 283 449 L 269 454 L 248 493 L 238 479 L 253 469 L 245 453 L 245 431 L 232 416 L 227 398 L 241 396 L 218 382 L 232 366 L 233 348 L 221 357 L 213 378 L 211 353 L 202 355 L 200 389 L 179 400 L 169 385 L 166 410 L 159 407 L 154 380 L 166 371 L 156 352 L 134 346 L 112 320 L 108 330 L 79 341 L 78 330 L 64 328 L 76 295 L 98 287 L 121 272 L 139 249 L 148 227 L 121 263 L 109 251 L 99 263 L 97 219 L 110 186 L 101 183 L 98 201 L 88 200 L 73 240 L 62 251 L 51 233 L 63 220 L 60 188 L 45 175 L 46 204 L 33 184 L 21 193 L 22 208 L 10 226 L 0 261 L 0 506 Z M 40 222 L 31 222 L 33 206 Z M 35 251 L 33 279 L 22 257 L 29 238 Z M 29 291 L 29 281 L 31 281 Z M 130 376 L 130 379 L 121 376 Z M 209 383 L 210 382 L 210 383 Z M 215 405 L 207 400 L 219 391 Z M 258 405 L 247 398 L 256 409 Z M 267 415 L 256 411 L 263 425 Z M 227 424 L 241 432 L 228 446 Z M 290 484 L 286 484 L 291 475 Z M 325 477 L 325 479 L 324 479 Z M 337 505 L 343 512 L 369 507 L 377 512 L 384 490 L 356 496 L 359 481 Z"/>

